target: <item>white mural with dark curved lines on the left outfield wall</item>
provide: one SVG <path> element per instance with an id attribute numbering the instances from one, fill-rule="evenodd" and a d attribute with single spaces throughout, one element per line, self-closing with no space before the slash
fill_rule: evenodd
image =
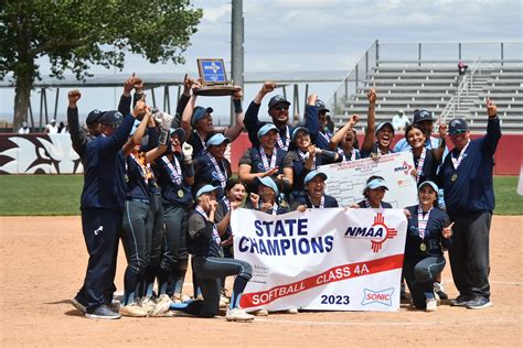
<path id="1" fill-rule="evenodd" d="M 0 134 L 0 174 L 78 173 L 70 134 Z"/>

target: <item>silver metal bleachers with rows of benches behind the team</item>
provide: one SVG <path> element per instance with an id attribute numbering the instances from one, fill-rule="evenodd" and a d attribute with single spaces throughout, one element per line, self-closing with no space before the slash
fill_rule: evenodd
<path id="1" fill-rule="evenodd" d="M 498 106 L 504 131 L 523 132 L 523 68 L 521 66 L 480 66 L 473 75 L 467 72 L 471 87 L 460 97 L 459 107 L 447 118 L 465 117 L 472 131 L 485 129 L 485 97 Z M 457 64 L 418 66 L 412 64 L 381 64 L 365 76 L 356 93 L 351 95 L 335 117 L 343 124 L 346 117 L 362 117 L 366 122 L 369 101 L 366 91 L 376 88 L 376 121 L 392 120 L 399 109 L 412 118 L 416 109 L 428 109 L 437 118 L 458 91 Z"/>

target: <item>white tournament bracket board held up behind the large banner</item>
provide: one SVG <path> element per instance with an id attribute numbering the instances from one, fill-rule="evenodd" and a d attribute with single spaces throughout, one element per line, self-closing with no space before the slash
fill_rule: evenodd
<path id="1" fill-rule="evenodd" d="M 410 152 L 397 152 L 371 157 L 321 165 L 318 170 L 327 174 L 325 193 L 338 199 L 340 206 L 363 200 L 363 188 L 372 175 L 383 176 L 388 191 L 384 202 L 394 208 L 415 206 L 417 200 L 416 180 L 410 174 L 414 160 Z"/>

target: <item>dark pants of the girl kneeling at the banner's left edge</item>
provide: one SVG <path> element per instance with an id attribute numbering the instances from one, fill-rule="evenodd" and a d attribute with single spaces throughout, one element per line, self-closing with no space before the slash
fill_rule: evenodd
<path id="1" fill-rule="evenodd" d="M 245 261 L 235 259 L 195 255 L 192 258 L 192 267 L 202 287 L 204 303 L 200 316 L 203 317 L 213 317 L 218 314 L 222 278 L 237 275 L 237 278 L 243 278 L 243 283 L 246 284 L 253 276 L 252 265 Z M 235 283 L 237 281 L 238 279 L 235 280 Z M 243 287 L 245 287 L 245 285 L 243 285 Z M 243 287 L 236 290 L 238 294 L 243 292 Z"/>

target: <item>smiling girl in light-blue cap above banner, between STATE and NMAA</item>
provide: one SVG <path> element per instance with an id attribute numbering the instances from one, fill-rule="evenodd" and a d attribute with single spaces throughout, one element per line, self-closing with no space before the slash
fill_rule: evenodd
<path id="1" fill-rule="evenodd" d="M 305 178 L 307 194 L 295 202 L 296 209 L 305 211 L 307 208 L 338 208 L 338 200 L 325 195 L 324 173 L 312 171 Z"/>

